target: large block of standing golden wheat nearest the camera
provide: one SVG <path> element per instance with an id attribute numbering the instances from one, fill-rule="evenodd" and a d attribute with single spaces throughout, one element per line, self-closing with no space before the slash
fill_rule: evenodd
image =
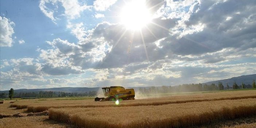
<path id="1" fill-rule="evenodd" d="M 221 100 L 159 106 L 51 108 L 49 118 L 90 128 L 188 127 L 256 114 L 256 99 Z"/>

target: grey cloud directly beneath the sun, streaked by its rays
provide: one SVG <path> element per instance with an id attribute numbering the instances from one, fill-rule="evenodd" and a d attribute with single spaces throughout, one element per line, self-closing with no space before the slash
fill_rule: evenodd
<path id="1" fill-rule="evenodd" d="M 113 46 L 101 65 L 99 65 L 99 68 L 121 67 L 133 62 L 163 59 L 166 55 L 162 54 L 164 52 L 159 51 L 160 48 L 156 46 L 155 42 L 169 35 L 166 29 L 173 27 L 175 21 L 176 19 L 154 19 L 141 32 L 126 30 L 122 24 L 98 24 L 93 31 L 92 37 L 104 37 L 105 41 L 110 46 Z M 156 23 L 161 24 L 162 27 L 159 27 Z"/>

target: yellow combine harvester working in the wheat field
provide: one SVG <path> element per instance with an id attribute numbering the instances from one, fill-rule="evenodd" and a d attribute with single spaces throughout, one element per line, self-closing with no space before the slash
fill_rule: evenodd
<path id="1" fill-rule="evenodd" d="M 118 99 L 122 100 L 135 100 L 135 92 L 134 89 L 125 89 L 122 86 L 110 86 L 102 88 L 104 96 L 106 98 L 102 97 L 96 97 L 94 101 L 115 101 Z"/>

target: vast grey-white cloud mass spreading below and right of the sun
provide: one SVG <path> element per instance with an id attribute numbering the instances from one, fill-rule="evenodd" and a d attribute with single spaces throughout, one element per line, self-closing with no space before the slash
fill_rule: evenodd
<path id="1" fill-rule="evenodd" d="M 94 8 L 103 11 L 115 2 L 97 0 Z M 8 77 L 15 71 L 38 77 L 79 75 L 89 70 L 91 78 L 79 79 L 86 86 L 178 85 L 256 72 L 256 63 L 246 62 L 256 58 L 254 0 L 167 0 L 166 7 L 161 0 L 148 0 L 147 6 L 154 18 L 141 30 L 102 22 L 87 31 L 84 23 L 69 23 L 67 28 L 79 42 L 47 41 L 50 47 L 38 50 L 40 63 L 28 58 L 8 61 L 15 68 L 1 72 L 1 77 L 9 79 L 1 79 L 1 84 L 15 82 Z M 30 84 L 40 78 L 33 80 Z M 54 84 L 61 80 L 42 81 Z"/>

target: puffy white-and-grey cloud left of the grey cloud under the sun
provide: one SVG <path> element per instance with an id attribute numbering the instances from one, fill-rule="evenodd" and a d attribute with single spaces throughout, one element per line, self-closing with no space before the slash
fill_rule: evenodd
<path id="1" fill-rule="evenodd" d="M 47 41 L 53 49 L 40 50 L 40 58 L 55 67 L 59 65 L 75 66 L 82 69 L 95 68 L 109 52 L 107 43 L 96 40 L 95 42 L 81 42 L 79 44 L 69 43 L 59 38 L 53 42 Z M 101 44 L 100 44 L 101 43 Z M 95 45 L 99 44 L 99 45 Z"/>

